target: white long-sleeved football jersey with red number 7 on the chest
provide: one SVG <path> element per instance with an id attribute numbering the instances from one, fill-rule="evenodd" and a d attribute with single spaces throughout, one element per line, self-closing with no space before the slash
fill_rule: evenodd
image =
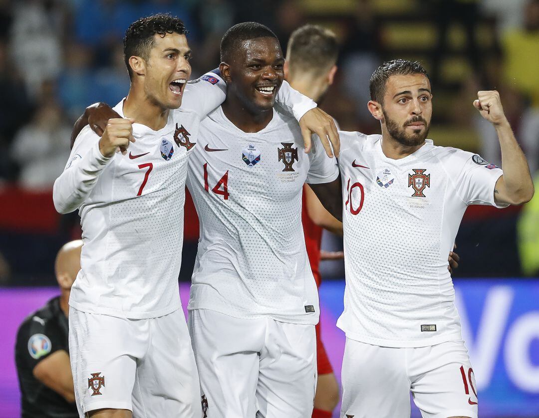
<path id="1" fill-rule="evenodd" d="M 171 110 L 164 128 L 134 123 L 136 142 L 127 155 L 103 157 L 100 137 L 89 126 L 77 137 L 53 190 L 60 213 L 80 207 L 84 245 L 71 289 L 73 308 L 139 319 L 181 306 L 187 160 L 197 145 L 201 115 L 225 97 L 224 81 L 211 76 L 218 81 L 186 87 L 189 110 Z M 123 117 L 123 100 L 114 110 Z"/>

